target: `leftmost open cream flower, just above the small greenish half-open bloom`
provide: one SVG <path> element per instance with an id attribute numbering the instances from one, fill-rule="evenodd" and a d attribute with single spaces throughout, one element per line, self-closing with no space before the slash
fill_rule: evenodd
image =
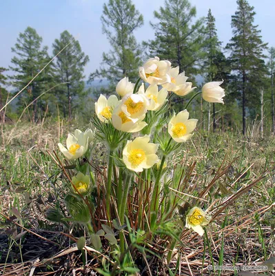
<path id="1" fill-rule="evenodd" d="M 77 159 L 85 155 L 88 150 L 89 142 L 92 139 L 92 130 L 86 130 L 82 132 L 81 130 L 75 130 L 74 135 L 68 135 L 66 140 L 65 148 L 61 143 L 58 144 L 59 149 L 68 159 Z"/>

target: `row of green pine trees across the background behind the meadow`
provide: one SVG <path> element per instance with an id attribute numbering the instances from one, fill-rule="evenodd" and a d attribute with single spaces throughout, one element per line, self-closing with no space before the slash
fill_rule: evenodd
<path id="1" fill-rule="evenodd" d="M 218 39 L 212 11 L 203 18 L 196 18 L 196 7 L 188 0 L 166 0 L 154 11 L 150 22 L 154 37 L 137 43 L 134 32 L 143 26 L 143 15 L 131 0 L 109 0 L 103 4 L 101 15 L 103 34 L 110 42 L 110 52 L 103 52 L 98 70 L 89 80 L 107 79 L 110 86 L 99 92 L 113 92 L 116 83 L 127 76 L 136 81 L 139 66 L 148 57 L 168 59 L 172 66 L 200 86 L 203 82 L 220 81 L 226 90 L 226 105 L 221 107 L 198 101 L 193 112 L 201 116 L 203 128 L 240 128 L 247 132 L 247 121 L 265 114 L 266 128 L 275 131 L 274 119 L 274 68 L 275 48 L 268 48 L 261 37 L 260 28 L 254 23 L 255 11 L 247 0 L 237 0 L 232 15 L 232 39 L 223 48 Z M 28 27 L 19 34 L 12 48 L 10 77 L 12 85 L 20 90 L 50 60 L 48 48 L 42 47 L 42 38 L 36 30 Z M 65 47 L 65 49 L 64 49 Z M 57 55 L 26 91 L 19 96 L 19 107 L 32 103 L 31 119 L 37 121 L 39 112 L 45 112 L 49 102 L 54 102 L 64 117 L 72 118 L 72 110 L 79 106 L 81 97 L 87 95 L 83 70 L 89 58 L 81 50 L 68 31 L 61 33 L 52 45 L 52 55 Z M 59 53 L 63 50 L 61 53 Z M 0 70 L 0 108 L 3 105 L 3 84 L 7 81 Z M 58 84 L 50 93 L 37 97 Z M 96 91 L 94 91 L 96 93 Z M 2 96 L 1 96 L 2 95 Z M 2 100 L 1 100 L 2 99 Z M 174 108 L 187 99 L 174 99 Z M 260 115 L 261 113 L 261 115 Z"/>

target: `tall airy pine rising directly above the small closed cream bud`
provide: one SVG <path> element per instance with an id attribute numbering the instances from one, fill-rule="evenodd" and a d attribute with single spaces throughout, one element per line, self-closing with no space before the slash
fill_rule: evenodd
<path id="1" fill-rule="evenodd" d="M 125 76 L 136 81 L 141 50 L 134 31 L 143 25 L 143 16 L 131 0 L 109 0 L 103 5 L 101 22 L 103 34 L 106 34 L 112 50 L 103 53 L 103 67 L 92 73 L 90 80 L 103 77 L 110 81 L 111 86 Z"/>

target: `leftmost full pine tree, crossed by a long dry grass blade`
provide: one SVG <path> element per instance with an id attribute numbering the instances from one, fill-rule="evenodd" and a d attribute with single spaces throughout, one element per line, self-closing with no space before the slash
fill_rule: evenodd
<path id="1" fill-rule="evenodd" d="M 39 37 L 39 34 L 37 34 L 34 28 L 28 27 L 25 32 L 19 34 L 17 43 L 15 43 L 14 48 L 12 48 L 12 52 L 14 52 L 16 56 L 12 58 L 11 62 L 14 66 L 11 66 L 10 69 L 13 70 L 16 75 L 13 75 L 11 79 L 13 80 L 12 86 L 15 86 L 18 90 L 26 86 L 49 61 L 48 48 L 46 46 L 42 48 L 41 43 L 42 37 Z M 43 72 L 32 81 L 27 90 L 19 95 L 19 106 L 21 107 L 34 101 L 32 103 L 32 121 L 37 121 L 38 119 L 38 108 L 43 109 L 42 99 L 36 99 L 47 86 L 49 81 L 49 70 L 50 66 L 43 70 Z"/>

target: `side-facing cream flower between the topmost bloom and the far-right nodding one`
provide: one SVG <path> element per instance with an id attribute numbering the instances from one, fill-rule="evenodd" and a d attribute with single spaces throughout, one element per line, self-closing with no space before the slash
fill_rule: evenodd
<path id="1" fill-rule="evenodd" d="M 163 87 L 167 88 L 168 91 L 173 91 L 176 95 L 185 96 L 196 88 L 192 88 L 192 82 L 186 82 L 188 77 L 185 77 L 185 72 L 179 74 L 179 66 L 171 68 L 169 75 L 171 82 L 163 83 Z"/>

